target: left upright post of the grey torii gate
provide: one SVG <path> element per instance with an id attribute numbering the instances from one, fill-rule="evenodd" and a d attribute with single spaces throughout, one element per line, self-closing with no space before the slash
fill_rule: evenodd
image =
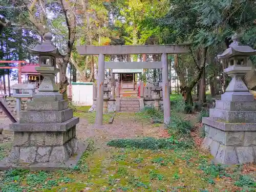
<path id="1" fill-rule="evenodd" d="M 102 125 L 103 119 L 103 88 L 104 88 L 104 65 L 105 56 L 99 54 L 98 61 L 98 79 L 97 79 L 97 105 L 96 105 L 96 125 Z"/>

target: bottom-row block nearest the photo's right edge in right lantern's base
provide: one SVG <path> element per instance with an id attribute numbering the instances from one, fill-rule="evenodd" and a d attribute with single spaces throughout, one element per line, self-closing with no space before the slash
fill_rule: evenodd
<path id="1" fill-rule="evenodd" d="M 253 148 L 250 146 L 237 147 L 238 160 L 240 164 L 253 163 Z"/>

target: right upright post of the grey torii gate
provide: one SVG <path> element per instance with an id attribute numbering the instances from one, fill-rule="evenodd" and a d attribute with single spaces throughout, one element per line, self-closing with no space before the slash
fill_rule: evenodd
<path id="1" fill-rule="evenodd" d="M 163 87 L 163 113 L 164 113 L 164 123 L 170 123 L 170 91 L 169 91 L 169 78 L 168 78 L 168 62 L 167 54 L 162 53 L 162 87 Z"/>

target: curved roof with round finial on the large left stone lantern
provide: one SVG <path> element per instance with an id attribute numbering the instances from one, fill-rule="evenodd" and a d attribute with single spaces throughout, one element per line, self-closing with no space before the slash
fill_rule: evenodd
<path id="1" fill-rule="evenodd" d="M 67 54 L 61 54 L 52 42 L 52 34 L 46 33 L 44 35 L 45 41 L 38 44 L 33 49 L 28 48 L 28 52 L 36 55 L 52 55 L 56 58 L 66 57 Z"/>

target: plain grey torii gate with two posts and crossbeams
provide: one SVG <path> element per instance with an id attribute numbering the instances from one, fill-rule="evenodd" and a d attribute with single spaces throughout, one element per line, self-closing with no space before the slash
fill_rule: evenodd
<path id="1" fill-rule="evenodd" d="M 170 92 L 168 80 L 167 54 L 189 52 L 189 44 L 147 45 L 147 46 L 76 46 L 80 55 L 99 55 L 97 76 L 96 125 L 103 119 L 103 82 L 104 69 L 157 69 L 162 68 L 164 123 L 170 122 Z M 105 55 L 161 54 L 160 62 L 105 62 Z"/>

